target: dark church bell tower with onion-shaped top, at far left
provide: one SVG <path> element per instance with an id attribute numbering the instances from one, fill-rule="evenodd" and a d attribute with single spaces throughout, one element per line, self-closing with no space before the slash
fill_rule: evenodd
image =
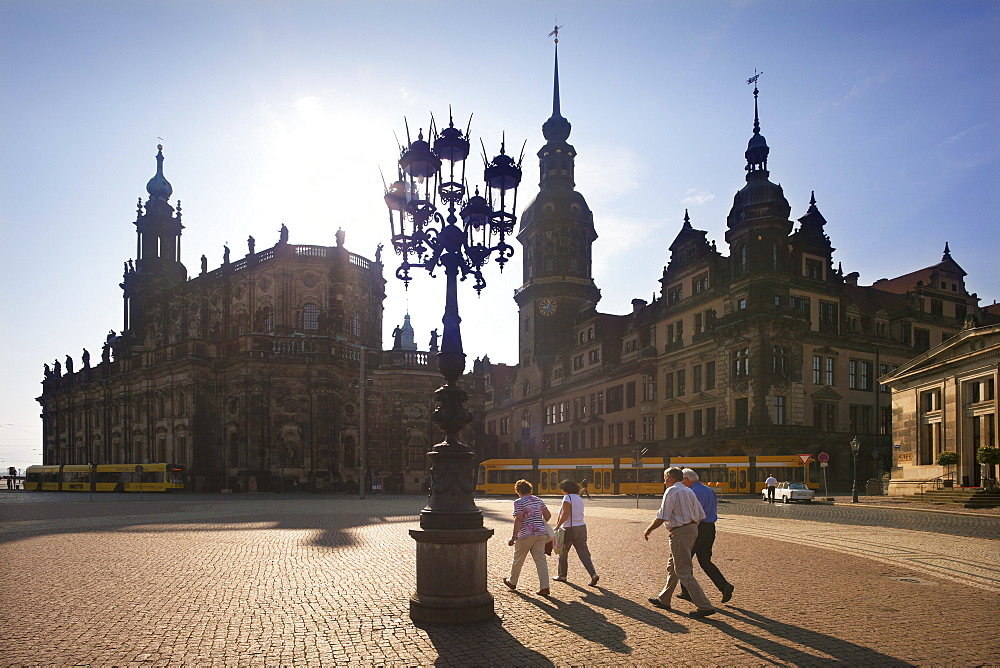
<path id="1" fill-rule="evenodd" d="M 150 300 L 187 280 L 187 269 L 181 264 L 181 203 L 177 202 L 175 215 L 168 203 L 174 189 L 163 176 L 163 146 L 156 148 L 156 174 L 146 183 L 149 199 L 145 207 L 140 199 L 136 211 L 135 264 L 126 263 L 121 283 L 125 293 L 123 332 L 140 344 Z"/>

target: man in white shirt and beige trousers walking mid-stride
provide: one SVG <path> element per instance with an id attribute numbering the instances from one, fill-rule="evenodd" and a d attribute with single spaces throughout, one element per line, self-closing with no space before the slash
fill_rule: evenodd
<path id="1" fill-rule="evenodd" d="M 691 565 L 691 551 L 698 538 L 698 522 L 705 519 L 705 510 L 694 492 L 681 483 L 683 479 L 683 472 L 676 466 L 663 472 L 663 482 L 667 485 L 666 491 L 663 492 L 663 502 L 660 504 L 659 512 L 656 513 L 656 519 L 646 527 L 642 535 L 644 539 L 649 540 L 649 534 L 662 524 L 666 524 L 669 531 L 670 559 L 667 561 L 667 584 L 659 594 L 650 597 L 649 602 L 657 608 L 670 610 L 670 597 L 678 581 L 683 582 L 691 595 L 691 601 L 698 606 L 691 616 L 708 617 L 715 614 L 715 608 L 705 596 L 701 585 L 695 580 Z"/>

